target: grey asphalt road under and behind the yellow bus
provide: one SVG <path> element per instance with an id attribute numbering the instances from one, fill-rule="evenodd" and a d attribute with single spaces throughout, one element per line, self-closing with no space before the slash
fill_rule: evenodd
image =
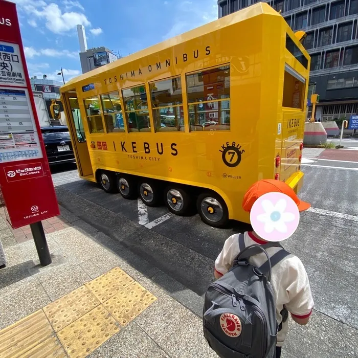
<path id="1" fill-rule="evenodd" d="M 302 353 L 297 337 L 290 335 L 287 357 L 358 355 L 358 151 L 346 152 L 332 157 L 330 151 L 304 150 L 305 183 L 299 196 L 312 209 L 301 214 L 298 230 L 284 247 L 304 263 L 315 300 L 315 323 L 309 333 L 295 328 L 295 335 L 305 339 L 308 334 L 316 346 Z M 178 217 L 164 206 L 147 208 L 140 200 L 125 200 L 80 180 L 75 170 L 55 172 L 53 180 L 64 207 L 198 296 L 214 279 L 214 260 L 223 242 L 249 227 L 232 222 L 226 229 L 214 229 L 197 214 Z M 332 335 L 334 342 L 321 344 L 322 327 L 341 333 Z M 354 348 L 348 347 L 352 340 Z"/>

